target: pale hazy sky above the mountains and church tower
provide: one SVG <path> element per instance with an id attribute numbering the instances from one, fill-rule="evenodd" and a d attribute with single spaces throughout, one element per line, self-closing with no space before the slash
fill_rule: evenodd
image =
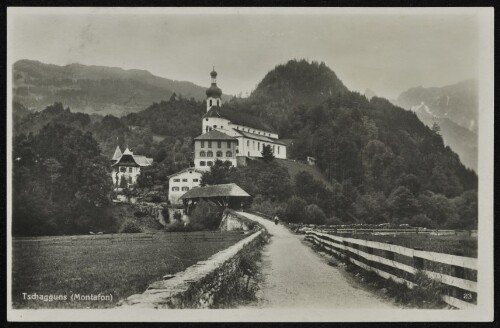
<path id="1" fill-rule="evenodd" d="M 75 11 L 77 9 L 73 9 Z M 146 69 L 205 86 L 215 65 L 228 94 L 255 88 L 275 65 L 324 61 L 351 90 L 394 98 L 414 86 L 477 77 L 478 16 L 391 14 L 136 14 L 103 9 L 9 11 L 9 56 L 65 65 Z"/>

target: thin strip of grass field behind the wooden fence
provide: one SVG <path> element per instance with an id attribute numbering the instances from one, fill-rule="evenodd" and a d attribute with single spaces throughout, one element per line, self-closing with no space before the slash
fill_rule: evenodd
<path id="1" fill-rule="evenodd" d="M 421 248 L 424 251 L 446 253 L 477 258 L 477 236 L 468 234 L 436 236 L 430 234 L 342 234 L 343 237 L 358 238 L 363 240 L 378 241 L 381 243 L 392 242 L 409 248 Z"/>

